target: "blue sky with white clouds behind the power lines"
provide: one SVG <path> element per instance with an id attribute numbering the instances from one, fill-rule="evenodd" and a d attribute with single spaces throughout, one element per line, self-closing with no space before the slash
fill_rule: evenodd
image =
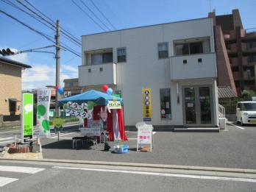
<path id="1" fill-rule="evenodd" d="M 21 4 L 15 0 L 4 0 L 13 2 L 17 6 L 26 10 Z M 25 24 L 34 27 L 40 32 L 54 37 L 54 31 L 40 24 L 34 18 L 16 10 L 3 0 L 0 1 L 0 10 L 13 15 L 15 18 L 23 21 Z M 21 0 L 24 4 L 26 1 Z M 125 29 L 135 26 L 145 26 L 151 24 L 162 24 L 172 21 L 182 21 L 193 18 L 205 18 L 210 10 L 215 9 L 216 15 L 224 15 L 232 13 L 232 9 L 239 9 L 243 28 L 255 28 L 255 7 L 256 0 L 74 0 L 80 7 L 90 15 L 95 21 L 105 28 L 105 24 L 109 29 L 104 30 L 88 18 L 85 13 L 72 2 L 72 0 L 28 0 L 38 10 L 47 15 L 52 20 L 60 20 L 60 26 L 70 32 L 76 38 L 81 39 L 81 35 L 92 34 L 96 32 L 109 31 L 114 28 L 105 20 L 105 18 L 96 10 L 91 1 L 99 7 L 108 20 L 113 24 L 115 29 Z M 90 13 L 85 7 L 86 4 L 93 13 L 102 21 L 100 23 L 97 18 Z M 27 11 L 27 10 L 26 10 Z M 25 26 L 18 24 L 11 18 L 0 13 L 0 49 L 12 48 L 17 50 L 26 50 L 49 46 L 53 43 L 46 38 L 32 32 Z M 81 52 L 81 48 L 74 43 L 60 37 L 60 40 L 74 49 Z M 54 51 L 54 48 L 46 49 L 46 51 Z M 23 71 L 23 89 L 43 88 L 45 85 L 55 84 L 55 59 L 53 54 L 26 53 L 17 54 L 10 57 L 22 63 L 32 65 L 31 69 Z M 61 51 L 61 81 L 66 78 L 76 78 L 77 66 L 81 65 L 82 59 L 76 55 Z"/>

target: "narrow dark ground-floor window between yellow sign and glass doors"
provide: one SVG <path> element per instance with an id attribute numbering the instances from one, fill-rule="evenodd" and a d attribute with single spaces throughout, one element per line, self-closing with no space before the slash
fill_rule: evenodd
<path id="1" fill-rule="evenodd" d="M 171 89 L 160 89 L 160 115 L 162 119 L 171 118 Z"/>

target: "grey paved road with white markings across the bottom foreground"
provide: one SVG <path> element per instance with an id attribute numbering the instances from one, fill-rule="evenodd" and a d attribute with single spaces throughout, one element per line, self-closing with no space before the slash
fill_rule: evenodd
<path id="1" fill-rule="evenodd" d="M 0 162 L 0 191 L 256 191 L 256 179 Z"/>

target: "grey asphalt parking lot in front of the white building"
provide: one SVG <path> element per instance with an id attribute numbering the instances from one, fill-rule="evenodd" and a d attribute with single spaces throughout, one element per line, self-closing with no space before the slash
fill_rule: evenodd
<path id="1" fill-rule="evenodd" d="M 72 149 L 71 138 L 77 132 L 41 139 L 43 158 L 96 160 L 129 163 L 155 163 L 182 166 L 256 168 L 256 127 L 227 124 L 221 132 L 155 132 L 152 152 L 136 152 L 136 132 L 127 132 L 129 152 L 104 152 L 104 143 L 95 149 Z M 113 142 L 110 142 L 113 146 Z"/>

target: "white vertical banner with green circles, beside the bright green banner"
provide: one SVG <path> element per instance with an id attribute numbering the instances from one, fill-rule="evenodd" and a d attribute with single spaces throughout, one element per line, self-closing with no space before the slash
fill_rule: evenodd
<path id="1" fill-rule="evenodd" d="M 48 138 L 50 136 L 50 102 L 51 89 L 38 89 L 38 123 L 40 138 Z"/>

